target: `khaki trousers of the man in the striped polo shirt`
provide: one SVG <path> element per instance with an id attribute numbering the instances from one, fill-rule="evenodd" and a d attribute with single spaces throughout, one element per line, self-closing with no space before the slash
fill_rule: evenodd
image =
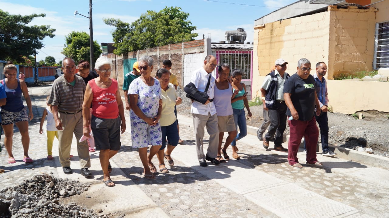
<path id="1" fill-rule="evenodd" d="M 82 112 L 76 114 L 66 114 L 58 112 L 58 116 L 62 122 L 63 130 L 58 131 L 58 146 L 60 163 L 62 167 L 70 166 L 70 147 L 72 146 L 73 134 L 77 140 L 77 152 L 80 158 L 81 168 L 91 167 L 91 159 L 89 157 L 88 143 L 85 141 L 79 142 L 82 136 Z"/>

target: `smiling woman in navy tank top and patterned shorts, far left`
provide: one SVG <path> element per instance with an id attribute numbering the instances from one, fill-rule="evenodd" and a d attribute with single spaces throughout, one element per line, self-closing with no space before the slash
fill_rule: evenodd
<path id="1" fill-rule="evenodd" d="M 32 120 L 32 105 L 28 95 L 27 85 L 25 81 L 19 80 L 16 77 L 17 68 L 15 65 L 5 65 L 5 79 L 1 80 L 7 94 L 7 103 L 1 106 L 0 112 L 4 129 L 4 145 L 8 152 L 8 163 L 15 163 L 14 155 L 12 154 L 12 136 L 14 135 L 14 124 L 18 127 L 22 136 L 22 145 L 24 151 L 23 161 L 26 163 L 32 162 L 28 156 L 28 147 L 30 146 L 30 136 L 28 135 L 28 121 Z M 28 114 L 26 107 L 23 105 L 23 99 L 26 99 L 28 106 Z"/>

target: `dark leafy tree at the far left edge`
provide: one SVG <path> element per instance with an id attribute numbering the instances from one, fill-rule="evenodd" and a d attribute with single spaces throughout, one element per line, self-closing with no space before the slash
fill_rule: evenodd
<path id="1" fill-rule="evenodd" d="M 46 14 L 21 16 L 0 9 L 0 60 L 24 63 L 22 56 L 34 54 L 34 48 L 44 47 L 41 41 L 45 37 L 55 36 L 50 25 L 29 25 L 37 17 Z"/>

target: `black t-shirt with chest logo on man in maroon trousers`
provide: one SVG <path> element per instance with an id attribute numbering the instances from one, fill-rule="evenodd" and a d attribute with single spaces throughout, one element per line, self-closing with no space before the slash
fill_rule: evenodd
<path id="1" fill-rule="evenodd" d="M 284 93 L 291 94 L 293 106 L 301 121 L 309 121 L 315 115 L 315 89 L 315 78 L 312 75 L 304 80 L 295 73 L 284 83 Z M 286 115 L 291 116 L 289 108 Z"/>

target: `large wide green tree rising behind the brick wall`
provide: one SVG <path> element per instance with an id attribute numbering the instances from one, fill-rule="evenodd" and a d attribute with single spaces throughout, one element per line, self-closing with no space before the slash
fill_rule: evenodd
<path id="1" fill-rule="evenodd" d="M 112 31 L 115 54 L 125 54 L 156 46 L 188 42 L 195 40 L 196 26 L 191 26 L 187 20 L 189 13 L 181 11 L 180 7 L 165 7 L 159 12 L 147 10 L 139 19 L 128 24 L 120 19 L 105 18 L 104 23 L 114 26 Z"/>

